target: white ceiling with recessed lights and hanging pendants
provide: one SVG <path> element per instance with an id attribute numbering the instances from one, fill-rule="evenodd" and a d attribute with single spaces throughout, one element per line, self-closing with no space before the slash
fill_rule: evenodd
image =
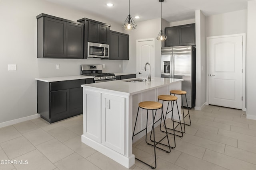
<path id="1" fill-rule="evenodd" d="M 129 13 L 129 0 L 47 0 L 54 4 L 68 6 L 102 16 L 116 23 L 123 23 Z M 162 18 L 168 22 L 195 18 L 195 10 L 205 16 L 247 9 L 249 0 L 164 0 Z M 107 3 L 114 6 L 108 7 Z M 158 0 L 130 0 L 130 14 L 140 16 L 136 22 L 160 18 L 161 3 Z M 84 16 L 86 18 L 86 16 Z"/>

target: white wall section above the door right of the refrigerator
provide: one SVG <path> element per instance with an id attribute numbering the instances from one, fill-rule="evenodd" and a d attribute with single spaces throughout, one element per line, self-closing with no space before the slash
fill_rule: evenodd
<path id="1" fill-rule="evenodd" d="M 239 10 L 206 17 L 206 36 L 247 32 L 247 10 Z"/>

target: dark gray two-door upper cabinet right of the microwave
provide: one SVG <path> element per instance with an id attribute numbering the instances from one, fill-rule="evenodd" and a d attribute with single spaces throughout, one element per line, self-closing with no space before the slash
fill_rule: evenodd
<path id="1" fill-rule="evenodd" d="M 110 60 L 129 60 L 129 35 L 110 31 Z"/>

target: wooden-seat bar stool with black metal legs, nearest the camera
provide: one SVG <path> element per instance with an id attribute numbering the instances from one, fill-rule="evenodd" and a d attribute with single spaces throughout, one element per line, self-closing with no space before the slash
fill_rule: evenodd
<path id="1" fill-rule="evenodd" d="M 162 145 L 165 145 L 166 147 L 169 147 L 169 150 L 164 150 L 165 152 L 167 152 L 167 153 L 171 152 L 171 148 L 170 148 L 170 143 L 169 143 L 167 131 L 166 131 L 166 136 L 164 136 L 160 141 L 156 142 L 156 140 L 155 140 L 155 127 L 154 127 L 154 120 L 155 120 L 154 117 L 155 117 L 155 116 L 154 116 L 154 110 L 161 109 L 161 111 L 162 111 L 162 116 L 163 116 L 163 119 L 164 119 L 164 125 L 165 125 L 165 117 L 164 117 L 164 113 L 163 113 L 163 105 L 160 104 L 160 103 L 158 103 L 158 102 L 151 102 L 151 101 L 146 101 L 146 102 L 140 102 L 140 103 L 139 103 L 138 112 L 137 112 L 137 116 L 136 116 L 136 121 L 135 121 L 135 125 L 134 125 L 134 131 L 133 131 L 133 135 L 132 135 L 132 140 L 133 140 L 133 137 L 134 137 L 135 135 L 138 135 L 139 133 L 141 133 L 142 131 L 145 130 L 145 129 L 142 129 L 142 130 L 139 131 L 138 133 L 134 134 L 135 128 L 136 128 L 137 119 L 138 119 L 138 113 L 139 113 L 139 109 L 140 109 L 140 108 L 147 110 L 147 122 L 146 122 L 146 128 L 145 128 L 145 129 L 146 129 L 146 139 L 145 139 L 145 141 L 146 141 L 146 143 L 147 143 L 148 145 L 151 145 L 151 146 L 154 147 L 155 166 L 153 167 L 153 166 L 151 166 L 150 164 L 147 164 L 146 162 L 143 162 L 142 160 L 140 160 L 140 159 L 138 159 L 138 158 L 136 158 L 136 157 L 135 157 L 135 159 L 139 160 L 140 162 L 142 162 L 142 163 L 144 163 L 144 164 L 150 166 L 150 168 L 154 169 L 154 168 L 156 168 L 156 148 L 161 149 L 161 150 L 164 150 L 164 149 L 162 149 L 162 148 L 157 147 L 156 145 L 162 144 L 162 143 L 160 143 L 160 142 L 163 141 L 166 137 L 167 137 L 167 140 L 168 140 L 168 145 L 165 145 L 165 144 L 162 144 Z M 154 145 L 152 145 L 152 144 L 150 144 L 150 143 L 147 142 L 148 110 L 152 110 L 152 119 L 153 119 L 152 131 L 153 131 L 153 137 L 154 137 L 154 140 L 153 140 L 152 142 L 154 142 Z M 155 112 L 155 115 L 156 115 L 156 112 Z M 151 131 L 151 132 L 152 132 L 152 131 Z"/>

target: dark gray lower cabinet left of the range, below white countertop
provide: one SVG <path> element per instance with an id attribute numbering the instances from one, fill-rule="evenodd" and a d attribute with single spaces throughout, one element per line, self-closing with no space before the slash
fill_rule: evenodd
<path id="1" fill-rule="evenodd" d="M 82 84 L 92 83 L 93 78 L 60 82 L 38 81 L 37 112 L 53 123 L 82 114 Z"/>

